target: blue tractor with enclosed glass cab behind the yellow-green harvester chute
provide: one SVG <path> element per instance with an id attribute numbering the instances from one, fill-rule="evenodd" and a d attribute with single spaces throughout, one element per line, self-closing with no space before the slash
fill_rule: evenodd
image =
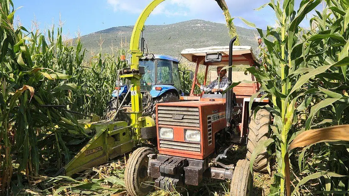
<path id="1" fill-rule="evenodd" d="M 177 102 L 179 96 L 184 95 L 181 90 L 178 64 L 179 61 L 176 58 L 168 55 L 148 54 L 139 61 L 139 66 L 144 68 L 144 75 L 140 80 L 144 112 L 154 119 L 156 103 Z M 112 99 L 107 103 L 107 111 L 116 110 L 117 98 L 119 97 L 120 104 L 127 91 L 127 84 L 117 84 L 116 90 L 112 93 Z M 123 105 L 129 104 L 130 101 L 131 96 L 128 94 Z"/>

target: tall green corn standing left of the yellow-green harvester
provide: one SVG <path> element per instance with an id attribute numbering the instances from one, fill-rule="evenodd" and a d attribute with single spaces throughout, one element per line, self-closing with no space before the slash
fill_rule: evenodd
<path id="1" fill-rule="evenodd" d="M 84 62 L 80 39 L 73 46 L 62 28 L 14 29 L 14 6 L 1 0 L 0 195 L 21 190 L 39 175 L 55 173 L 90 135 L 64 109 L 103 115 L 125 66 L 123 50 Z M 62 108 L 44 105 L 61 105 Z M 76 147 L 78 146 L 78 147 Z M 14 176 L 13 176 L 14 175 Z"/>

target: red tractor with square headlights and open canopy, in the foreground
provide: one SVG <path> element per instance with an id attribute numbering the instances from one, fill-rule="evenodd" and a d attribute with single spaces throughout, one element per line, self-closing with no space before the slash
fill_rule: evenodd
<path id="1" fill-rule="evenodd" d="M 251 47 L 233 46 L 185 49 L 183 57 L 196 63 L 191 96 L 180 97 L 181 102 L 156 105 L 158 154 L 151 148 L 138 148 L 130 156 L 125 170 L 128 193 L 144 196 L 154 186 L 173 191 L 176 186 L 199 185 L 203 177 L 231 179 L 230 196 L 249 195 L 253 174 L 250 172 L 251 154 L 257 143 L 268 138 L 270 113 L 261 109 L 252 115 L 248 110 L 268 104 L 261 96 L 250 100 L 260 90 L 258 83 L 242 83 L 225 94 L 194 95 L 196 75 L 200 65 L 206 66 L 204 85 L 210 66 L 230 66 L 228 78 L 232 83 L 232 65 L 258 65 Z M 252 76 L 252 81 L 255 78 Z M 238 132 L 239 134 L 236 134 Z M 246 159 L 236 165 L 220 162 L 234 143 L 247 143 Z M 224 146 L 219 152 L 219 146 Z M 254 171 L 267 171 L 266 149 L 255 159 Z M 211 164 L 210 164 L 211 163 Z"/>

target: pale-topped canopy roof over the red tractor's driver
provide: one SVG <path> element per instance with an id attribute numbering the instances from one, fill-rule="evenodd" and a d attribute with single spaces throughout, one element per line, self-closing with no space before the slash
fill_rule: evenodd
<path id="1" fill-rule="evenodd" d="M 200 64 L 205 64 L 205 56 L 207 53 L 222 53 L 222 61 L 219 63 L 211 63 L 209 65 L 228 65 L 229 46 L 213 46 L 207 48 L 190 48 L 184 49 L 181 55 L 187 60 L 196 63 L 200 60 Z M 252 63 L 251 63 L 252 62 Z M 233 65 L 250 65 L 258 64 L 256 57 L 252 52 L 251 46 L 233 46 Z"/>

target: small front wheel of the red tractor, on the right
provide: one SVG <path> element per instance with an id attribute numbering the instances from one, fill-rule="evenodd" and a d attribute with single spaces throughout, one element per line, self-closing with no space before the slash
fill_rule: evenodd
<path id="1" fill-rule="evenodd" d="M 231 179 L 230 196 L 250 196 L 252 185 L 253 174 L 250 172 L 250 161 L 239 160 Z"/>

